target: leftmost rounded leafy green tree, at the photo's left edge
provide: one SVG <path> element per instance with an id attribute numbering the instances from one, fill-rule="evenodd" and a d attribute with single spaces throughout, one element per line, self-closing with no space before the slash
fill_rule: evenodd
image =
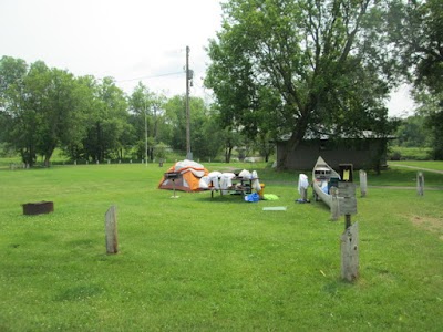
<path id="1" fill-rule="evenodd" d="M 28 68 L 24 61 L 8 56 L 0 61 L 0 74 L 2 139 L 14 146 L 23 163 L 32 166 L 41 155 L 49 166 L 55 147 L 80 131 L 75 79 L 42 61 Z"/>

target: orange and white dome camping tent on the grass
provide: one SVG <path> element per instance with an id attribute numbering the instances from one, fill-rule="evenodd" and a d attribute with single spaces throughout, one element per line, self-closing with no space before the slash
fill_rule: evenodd
<path id="1" fill-rule="evenodd" d="M 202 190 L 200 178 L 208 175 L 208 170 L 198 163 L 193 160 L 182 160 L 175 163 L 163 176 L 158 184 L 158 189 L 169 189 L 182 191 L 199 191 Z"/>

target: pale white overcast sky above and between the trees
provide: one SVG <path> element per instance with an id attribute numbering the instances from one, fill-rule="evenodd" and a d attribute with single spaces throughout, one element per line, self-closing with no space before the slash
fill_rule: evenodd
<path id="1" fill-rule="evenodd" d="M 172 96 L 185 93 L 189 46 L 190 94 L 206 98 L 205 48 L 220 30 L 220 15 L 219 0 L 0 0 L 0 56 L 112 76 L 126 93 L 142 81 Z M 405 89 L 388 107 L 391 115 L 411 114 Z"/>

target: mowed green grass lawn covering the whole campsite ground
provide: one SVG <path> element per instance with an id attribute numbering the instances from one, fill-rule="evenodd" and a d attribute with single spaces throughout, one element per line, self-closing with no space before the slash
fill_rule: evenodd
<path id="1" fill-rule="evenodd" d="M 168 166 L 0 170 L 0 331 L 443 330 L 443 175 L 425 173 L 433 190 L 418 197 L 416 170 L 369 173 L 377 187 L 352 217 L 360 278 L 348 283 L 344 220 L 295 203 L 298 173 L 235 165 L 256 169 L 275 201 L 174 199 L 156 188 Z M 54 212 L 23 216 L 41 200 Z M 117 255 L 105 253 L 112 205 Z"/>

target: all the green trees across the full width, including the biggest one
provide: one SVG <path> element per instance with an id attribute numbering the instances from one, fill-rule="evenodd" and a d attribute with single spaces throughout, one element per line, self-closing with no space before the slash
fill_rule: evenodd
<path id="1" fill-rule="evenodd" d="M 207 48 L 205 86 L 215 102 L 190 100 L 196 157 L 249 146 L 265 157 L 289 134 L 289 148 L 328 134 L 381 141 L 400 122 L 385 101 L 413 86 L 433 157 L 443 159 L 443 2 L 441 0 L 229 0 Z M 126 96 L 111 77 L 75 77 L 38 61 L 0 62 L 0 139 L 23 160 L 55 147 L 72 159 L 103 160 L 127 151 L 150 158 L 163 143 L 185 151 L 183 96 L 166 98 L 142 83 Z M 210 137 L 208 139 L 208 137 Z M 245 143 L 246 142 L 246 143 Z M 379 167 L 385 153 L 380 145 Z M 157 152 L 161 151 L 157 148 Z M 279 155 L 286 168 L 288 154 Z"/>

